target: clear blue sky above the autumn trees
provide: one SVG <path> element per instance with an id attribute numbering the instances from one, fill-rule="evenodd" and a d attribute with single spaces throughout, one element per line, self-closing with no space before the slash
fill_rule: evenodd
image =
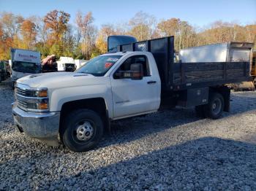
<path id="1" fill-rule="evenodd" d="M 44 16 L 53 9 L 68 12 L 71 23 L 74 23 L 78 10 L 91 11 L 97 26 L 127 21 L 140 10 L 154 15 L 157 20 L 178 17 L 200 27 L 215 20 L 256 23 L 256 0 L 0 0 L 0 12 L 13 12 L 24 17 Z"/>

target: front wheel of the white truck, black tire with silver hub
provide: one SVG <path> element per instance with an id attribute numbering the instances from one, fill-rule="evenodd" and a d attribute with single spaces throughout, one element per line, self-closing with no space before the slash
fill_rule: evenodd
<path id="1" fill-rule="evenodd" d="M 67 148 L 74 152 L 86 152 L 102 138 L 102 119 L 94 111 L 78 109 L 68 114 L 60 133 Z"/>

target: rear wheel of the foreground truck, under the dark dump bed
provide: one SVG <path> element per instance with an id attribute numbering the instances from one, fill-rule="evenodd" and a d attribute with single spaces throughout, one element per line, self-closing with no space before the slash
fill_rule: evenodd
<path id="1" fill-rule="evenodd" d="M 224 103 L 224 98 L 220 93 L 212 93 L 208 104 L 203 109 L 206 117 L 217 120 L 222 115 Z"/>

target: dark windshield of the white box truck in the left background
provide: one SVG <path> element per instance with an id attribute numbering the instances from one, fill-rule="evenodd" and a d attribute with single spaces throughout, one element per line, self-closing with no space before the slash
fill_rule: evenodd
<path id="1" fill-rule="evenodd" d="M 36 63 L 15 61 L 12 63 L 12 70 L 23 73 L 37 74 L 41 71 L 41 65 Z"/>

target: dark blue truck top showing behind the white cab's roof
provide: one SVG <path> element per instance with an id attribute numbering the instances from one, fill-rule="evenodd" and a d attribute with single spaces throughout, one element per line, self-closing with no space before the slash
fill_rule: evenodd
<path id="1" fill-rule="evenodd" d="M 115 35 L 108 36 L 108 52 L 117 52 L 118 45 L 137 42 L 133 36 Z"/>

